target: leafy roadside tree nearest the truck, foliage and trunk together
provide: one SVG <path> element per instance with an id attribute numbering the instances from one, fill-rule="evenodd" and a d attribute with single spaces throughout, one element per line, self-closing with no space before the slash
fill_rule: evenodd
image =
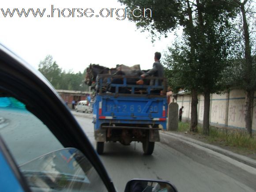
<path id="1" fill-rule="evenodd" d="M 184 17 L 181 17 L 180 24 L 183 26 L 183 37 L 176 39 L 172 48 L 169 48 L 170 57 L 166 55 L 166 66 L 173 68 L 171 87 L 177 89 L 183 88 L 191 91 L 191 120 L 190 131 L 197 132 L 198 114 L 198 86 L 199 70 L 196 61 L 196 36 L 193 23 L 192 5 L 189 0 L 183 2 L 181 11 Z M 180 41 L 179 41 L 180 40 Z"/>

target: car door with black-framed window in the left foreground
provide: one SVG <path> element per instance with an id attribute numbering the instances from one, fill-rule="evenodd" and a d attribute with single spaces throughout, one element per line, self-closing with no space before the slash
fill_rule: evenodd
<path id="1" fill-rule="evenodd" d="M 53 87 L 1 45 L 0 163 L 1 192 L 116 191 Z"/>

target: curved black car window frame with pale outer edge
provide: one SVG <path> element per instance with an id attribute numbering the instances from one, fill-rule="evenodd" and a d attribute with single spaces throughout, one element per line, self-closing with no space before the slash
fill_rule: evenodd
<path id="1" fill-rule="evenodd" d="M 11 96 L 23 102 L 26 109 L 38 117 L 64 147 L 74 147 L 81 151 L 107 190 L 116 192 L 90 140 L 60 95 L 40 72 L 3 45 L 0 45 L 0 89 L 4 90 L 4 95 L 0 92 L 1 96 Z"/>

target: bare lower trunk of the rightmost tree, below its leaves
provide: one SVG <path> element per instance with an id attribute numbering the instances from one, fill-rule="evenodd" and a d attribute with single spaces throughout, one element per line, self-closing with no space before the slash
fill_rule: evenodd
<path id="1" fill-rule="evenodd" d="M 254 91 L 246 91 L 245 93 L 245 128 L 252 137 L 252 106 Z"/>

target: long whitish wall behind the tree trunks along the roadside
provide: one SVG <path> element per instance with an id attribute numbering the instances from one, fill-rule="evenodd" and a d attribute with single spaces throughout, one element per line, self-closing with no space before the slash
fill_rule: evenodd
<path id="1" fill-rule="evenodd" d="M 198 95 L 198 120 L 203 122 L 204 97 Z M 191 117 L 191 95 L 178 95 L 179 108 L 184 106 L 182 119 Z M 256 130 L 256 93 L 252 111 L 252 129 Z M 231 90 L 230 94 L 211 94 L 210 123 L 218 127 L 245 128 L 245 91 Z"/>

